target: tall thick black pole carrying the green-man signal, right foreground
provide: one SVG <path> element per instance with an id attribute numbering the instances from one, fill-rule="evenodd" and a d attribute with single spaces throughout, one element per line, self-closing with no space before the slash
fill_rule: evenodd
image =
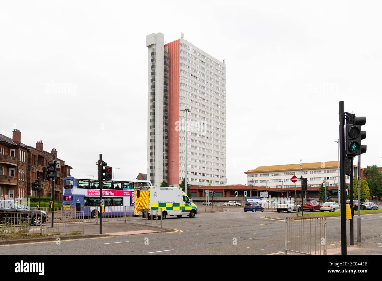
<path id="1" fill-rule="evenodd" d="M 340 121 L 340 192 L 341 197 L 341 254 L 346 255 L 346 196 L 345 196 L 345 102 L 340 101 L 338 105 L 338 115 Z"/>

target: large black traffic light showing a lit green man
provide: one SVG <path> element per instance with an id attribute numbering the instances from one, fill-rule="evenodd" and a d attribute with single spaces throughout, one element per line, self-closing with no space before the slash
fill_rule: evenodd
<path id="1" fill-rule="evenodd" d="M 366 124 L 366 117 L 348 115 L 346 122 L 346 157 L 351 158 L 366 152 L 366 145 L 361 145 L 361 140 L 366 138 L 366 131 L 361 130 L 361 125 Z"/>

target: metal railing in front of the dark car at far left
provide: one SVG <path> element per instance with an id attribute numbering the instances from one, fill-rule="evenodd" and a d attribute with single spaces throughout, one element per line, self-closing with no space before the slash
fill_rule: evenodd
<path id="1" fill-rule="evenodd" d="M 52 214 L 54 223 L 52 227 Z M 0 212 L 0 235 L 28 235 L 28 234 L 83 234 L 84 212 L 63 213 L 25 211 Z"/>

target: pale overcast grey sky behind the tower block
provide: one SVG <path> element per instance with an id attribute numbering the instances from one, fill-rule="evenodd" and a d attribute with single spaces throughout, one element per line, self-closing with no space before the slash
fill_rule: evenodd
<path id="1" fill-rule="evenodd" d="M 74 175 L 95 175 L 99 153 L 118 178 L 146 173 L 146 35 L 184 32 L 227 64 L 228 184 L 257 166 L 337 160 L 340 100 L 367 116 L 362 166 L 382 166 L 380 3 L 231 3 L 2 1 L 0 133 L 55 147 Z"/>

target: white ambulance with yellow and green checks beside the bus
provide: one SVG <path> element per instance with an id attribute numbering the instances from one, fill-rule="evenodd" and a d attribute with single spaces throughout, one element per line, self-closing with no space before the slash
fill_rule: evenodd
<path id="1" fill-rule="evenodd" d="M 134 187 L 134 214 L 147 216 L 177 216 L 194 218 L 197 207 L 180 187 Z"/>

